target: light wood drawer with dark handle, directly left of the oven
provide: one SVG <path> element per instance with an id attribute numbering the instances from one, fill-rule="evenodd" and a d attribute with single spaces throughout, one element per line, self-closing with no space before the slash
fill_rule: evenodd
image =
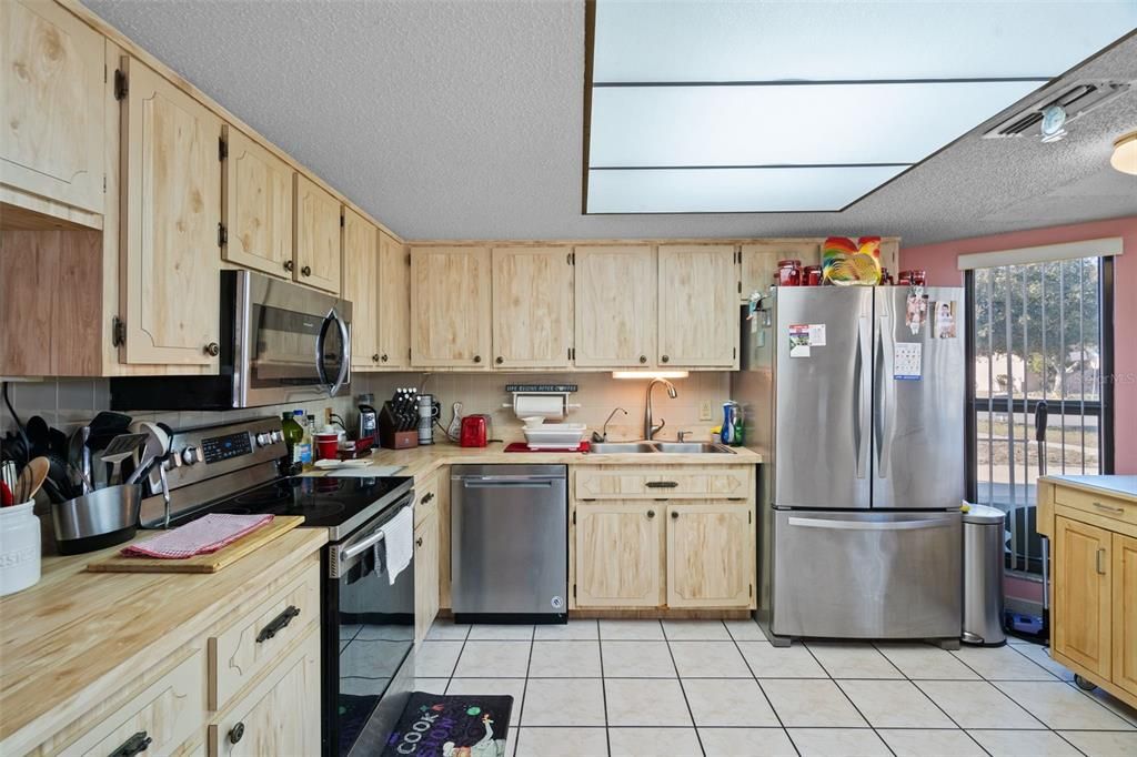
<path id="1" fill-rule="evenodd" d="M 209 638 L 209 709 L 217 710 L 313 624 L 319 624 L 319 564 Z"/>

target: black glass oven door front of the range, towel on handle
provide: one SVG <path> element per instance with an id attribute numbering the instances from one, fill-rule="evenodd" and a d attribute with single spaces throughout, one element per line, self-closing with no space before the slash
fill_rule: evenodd
<path id="1" fill-rule="evenodd" d="M 414 554 L 391 583 L 384 549 L 384 526 L 413 507 L 410 492 L 327 548 L 325 755 L 380 754 L 413 690 Z"/>

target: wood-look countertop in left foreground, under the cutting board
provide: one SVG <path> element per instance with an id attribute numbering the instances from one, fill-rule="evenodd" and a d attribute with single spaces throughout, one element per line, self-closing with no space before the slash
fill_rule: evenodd
<path id="1" fill-rule="evenodd" d="M 30 733 L 53 732 L 172 658 L 326 541 L 324 529 L 297 529 L 213 574 L 84 571 L 124 544 L 44 557 L 36 585 L 0 598 L 0 754 L 24 754 Z"/>

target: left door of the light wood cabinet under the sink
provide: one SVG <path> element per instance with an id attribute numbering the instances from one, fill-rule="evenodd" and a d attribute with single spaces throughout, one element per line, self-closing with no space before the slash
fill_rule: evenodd
<path id="1" fill-rule="evenodd" d="M 664 507 L 576 506 L 576 607 L 663 605 Z"/>

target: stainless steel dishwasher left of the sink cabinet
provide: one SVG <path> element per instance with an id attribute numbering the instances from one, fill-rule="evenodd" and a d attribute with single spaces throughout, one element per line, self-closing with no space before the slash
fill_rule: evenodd
<path id="1" fill-rule="evenodd" d="M 457 623 L 566 623 L 568 485 L 563 465 L 450 468 Z"/>

